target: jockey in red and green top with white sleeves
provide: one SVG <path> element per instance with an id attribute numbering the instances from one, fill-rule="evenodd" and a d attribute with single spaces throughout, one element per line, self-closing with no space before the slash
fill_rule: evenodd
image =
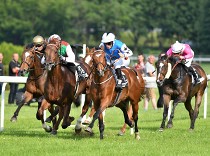
<path id="1" fill-rule="evenodd" d="M 80 66 L 79 63 L 75 62 L 75 54 L 72 51 L 72 48 L 70 44 L 66 41 L 61 40 L 61 37 L 57 34 L 53 34 L 49 37 L 48 43 L 52 39 L 57 39 L 60 41 L 60 49 L 59 49 L 59 55 L 61 56 L 61 59 L 67 63 L 73 63 L 76 66 L 76 71 L 79 77 L 79 81 L 85 79 L 88 77 L 87 73 L 84 71 L 84 69 Z"/>

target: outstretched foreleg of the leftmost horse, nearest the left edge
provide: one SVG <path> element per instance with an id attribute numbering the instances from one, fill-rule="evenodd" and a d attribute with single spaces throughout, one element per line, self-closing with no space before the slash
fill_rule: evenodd
<path id="1" fill-rule="evenodd" d="M 27 91 L 24 93 L 23 98 L 20 104 L 18 105 L 18 108 L 16 109 L 16 111 L 14 112 L 14 115 L 10 119 L 11 122 L 17 121 L 17 116 L 20 112 L 20 109 L 23 107 L 24 104 L 28 103 L 32 98 L 33 98 L 33 95 L 31 93 Z"/>

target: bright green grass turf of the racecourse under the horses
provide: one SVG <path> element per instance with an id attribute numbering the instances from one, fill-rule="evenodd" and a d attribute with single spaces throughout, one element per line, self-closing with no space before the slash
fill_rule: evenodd
<path id="1" fill-rule="evenodd" d="M 97 122 L 94 136 L 89 136 L 84 130 L 76 135 L 73 127 L 65 130 L 60 127 L 57 136 L 46 133 L 35 117 L 36 103 L 24 106 L 18 121 L 12 123 L 10 118 L 16 106 L 6 103 L 4 131 L 0 132 L 0 156 L 209 155 L 210 107 L 207 119 L 203 119 L 202 104 L 193 132 L 189 131 L 190 120 L 183 104 L 179 104 L 175 111 L 174 127 L 163 132 L 158 131 L 162 110 L 153 110 L 150 103 L 149 110 L 145 112 L 143 102 L 140 102 L 139 108 L 139 141 L 130 135 L 129 128 L 125 136 L 117 136 L 123 124 L 123 115 L 116 107 L 106 111 L 105 136 L 104 140 L 100 140 Z M 80 108 L 72 107 L 71 115 L 78 118 L 79 113 Z"/>

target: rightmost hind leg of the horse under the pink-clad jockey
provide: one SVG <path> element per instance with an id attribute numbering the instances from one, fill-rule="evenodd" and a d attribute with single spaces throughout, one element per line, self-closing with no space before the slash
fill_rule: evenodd
<path id="1" fill-rule="evenodd" d="M 193 112 L 193 118 L 191 120 L 191 124 L 190 124 L 190 129 L 193 130 L 195 127 L 195 120 L 198 117 L 199 114 L 199 107 L 201 105 L 201 101 L 202 101 L 202 95 L 197 95 L 195 98 L 195 108 L 194 108 L 194 112 Z"/>

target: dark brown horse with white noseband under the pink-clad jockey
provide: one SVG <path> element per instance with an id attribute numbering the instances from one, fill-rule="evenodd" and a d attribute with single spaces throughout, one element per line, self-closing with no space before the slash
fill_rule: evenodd
<path id="1" fill-rule="evenodd" d="M 202 97 L 207 87 L 207 77 L 204 70 L 198 64 L 191 64 L 196 72 L 204 78 L 200 84 L 194 85 L 192 75 L 188 73 L 184 61 L 179 59 L 179 56 L 167 55 L 159 57 L 157 67 L 157 84 L 163 88 L 163 119 L 160 126 L 160 131 L 165 128 L 165 121 L 168 114 L 169 102 L 173 100 L 173 108 L 167 127 L 173 127 L 174 111 L 178 103 L 184 103 L 185 108 L 190 116 L 190 130 L 194 129 L 196 118 L 199 114 Z M 192 109 L 191 99 L 195 97 L 194 110 Z"/>

